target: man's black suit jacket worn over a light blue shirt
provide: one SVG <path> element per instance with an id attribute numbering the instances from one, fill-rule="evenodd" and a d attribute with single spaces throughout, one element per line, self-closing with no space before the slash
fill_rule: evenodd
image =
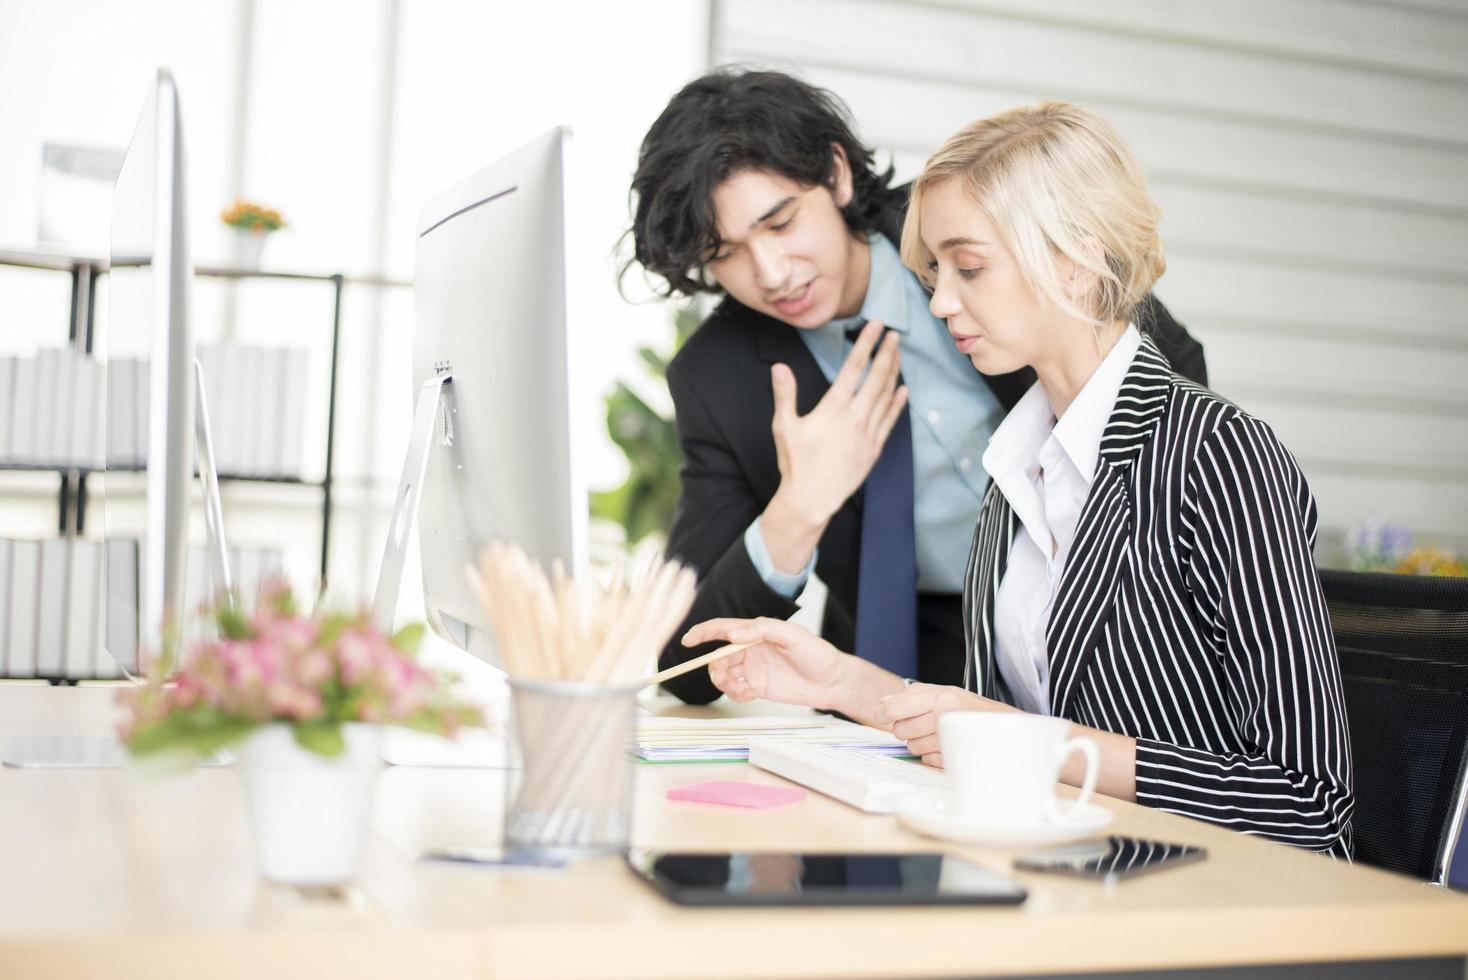
<path id="1" fill-rule="evenodd" d="M 894 192 L 894 204 L 879 223 L 879 230 L 893 242 L 901 238 L 904 213 L 906 189 Z M 1149 296 L 1138 310 L 1136 320 L 1138 326 L 1151 330 L 1180 374 L 1207 384 L 1202 346 L 1160 302 Z M 743 541 L 744 530 L 780 487 L 771 433 L 775 401 L 769 365 L 775 362 L 790 365 L 794 373 L 796 406 L 804 415 L 826 393 L 829 383 L 797 329 L 725 298 L 668 365 L 668 389 L 683 449 L 683 493 L 668 537 L 668 553 L 697 571 L 699 591 L 688 619 L 659 656 L 659 669 L 713 648 L 715 644 L 687 648 L 678 643 L 694 624 L 716 616 L 785 619 L 797 609 L 794 601 L 765 584 Z M 1035 374 L 1026 368 L 982 377 L 982 381 L 1009 411 L 1033 384 Z M 920 497 L 916 506 L 922 509 Z M 841 650 L 854 647 L 860 547 L 862 494 L 857 491 L 831 518 L 821 537 L 815 569 L 829 590 L 821 634 Z M 951 601 L 954 622 L 960 622 L 959 599 Z M 928 643 L 951 646 L 957 660 L 963 656 L 960 634 L 962 626 Z M 922 656 L 922 638 L 919 644 Z M 693 670 L 665 687 L 696 704 L 719 695 L 708 670 Z"/>

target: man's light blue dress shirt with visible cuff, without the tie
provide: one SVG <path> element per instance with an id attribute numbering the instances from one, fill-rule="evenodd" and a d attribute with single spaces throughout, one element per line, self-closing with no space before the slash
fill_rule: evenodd
<path id="1" fill-rule="evenodd" d="M 948 327 L 928 312 L 928 293 L 903 266 L 887 236 L 872 233 L 872 274 L 862 311 L 824 327 L 800 330 L 826 380 L 835 379 L 851 349 L 846 332 L 881 320 L 901 334 L 903 381 L 913 427 L 913 531 L 918 547 L 918 588 L 962 593 L 973 522 L 988 489 L 984 449 L 1004 418 L 1004 408 L 948 336 Z M 756 518 L 744 531 L 744 549 L 772 590 L 794 599 L 810 571 L 787 575 L 775 568 Z"/>

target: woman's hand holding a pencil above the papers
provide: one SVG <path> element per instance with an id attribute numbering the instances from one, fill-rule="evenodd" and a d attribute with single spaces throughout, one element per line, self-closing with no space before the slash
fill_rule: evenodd
<path id="1" fill-rule="evenodd" d="M 832 709 L 841 701 L 850 659 L 821 637 L 784 619 L 709 619 L 683 635 L 683 646 L 711 640 L 747 643 L 709 665 L 709 679 L 734 701 L 769 698 Z"/>

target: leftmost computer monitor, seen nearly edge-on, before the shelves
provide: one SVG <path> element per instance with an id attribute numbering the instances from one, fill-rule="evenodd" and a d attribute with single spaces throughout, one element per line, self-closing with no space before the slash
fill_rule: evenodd
<path id="1" fill-rule="evenodd" d="M 188 248 L 184 131 L 173 76 L 160 69 L 113 188 L 106 330 L 95 339 L 107 371 L 103 487 L 104 646 L 128 673 L 139 650 L 164 653 L 181 624 L 188 557 L 189 480 L 203 434 L 210 553 L 223 555 L 213 453 L 195 417 L 197 368 Z M 203 431 L 201 431 L 203 430 Z M 138 494 L 141 469 L 141 502 Z M 216 587 L 220 562 L 214 562 Z"/>

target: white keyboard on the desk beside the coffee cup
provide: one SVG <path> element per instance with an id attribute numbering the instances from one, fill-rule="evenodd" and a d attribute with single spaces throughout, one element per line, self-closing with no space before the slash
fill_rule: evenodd
<path id="1" fill-rule="evenodd" d="M 941 770 L 922 763 L 790 738 L 752 738 L 749 761 L 866 813 L 891 813 L 903 797 L 948 788 Z"/>

